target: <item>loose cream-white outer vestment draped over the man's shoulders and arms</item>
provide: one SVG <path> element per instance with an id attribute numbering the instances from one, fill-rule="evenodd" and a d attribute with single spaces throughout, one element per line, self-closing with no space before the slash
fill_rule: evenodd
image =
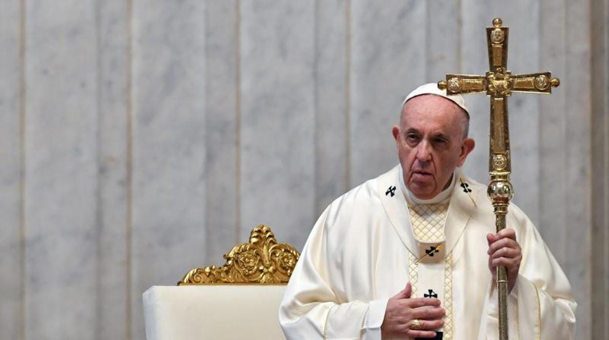
<path id="1" fill-rule="evenodd" d="M 424 255 L 414 238 L 400 173 L 398 165 L 350 190 L 315 223 L 281 302 L 287 339 L 381 339 L 387 300 L 412 279 L 412 258 Z M 447 317 L 452 317 L 445 339 L 496 339 L 497 293 L 486 240 L 496 232 L 493 207 L 486 186 L 459 171 L 455 176 L 444 229 L 451 263 L 443 280 L 451 287 L 445 295 Z M 576 302 L 564 272 L 514 204 L 506 225 L 515 229 L 523 249 L 508 298 L 510 340 L 572 339 Z"/>

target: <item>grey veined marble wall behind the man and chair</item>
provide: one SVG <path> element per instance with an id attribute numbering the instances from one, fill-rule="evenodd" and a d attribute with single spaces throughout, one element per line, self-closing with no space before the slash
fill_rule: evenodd
<path id="1" fill-rule="evenodd" d="M 396 164 L 401 99 L 487 69 L 501 16 L 515 201 L 609 332 L 609 3 L 0 2 L 0 338 L 144 339 L 141 294 L 220 264 L 259 223 L 300 248 L 333 198 Z M 469 97 L 487 181 L 488 103 Z"/>

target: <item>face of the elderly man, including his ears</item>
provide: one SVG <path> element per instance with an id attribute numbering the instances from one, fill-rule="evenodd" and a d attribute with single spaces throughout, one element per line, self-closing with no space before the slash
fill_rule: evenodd
<path id="1" fill-rule="evenodd" d="M 448 185 L 457 167 L 474 149 L 465 138 L 465 113 L 439 95 L 419 95 L 404 105 L 400 127 L 393 127 L 406 187 L 430 199 Z"/>

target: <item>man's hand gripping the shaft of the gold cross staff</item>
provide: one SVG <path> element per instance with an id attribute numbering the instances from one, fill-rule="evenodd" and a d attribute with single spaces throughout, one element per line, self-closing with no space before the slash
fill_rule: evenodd
<path id="1" fill-rule="evenodd" d="M 497 280 L 497 266 L 507 268 L 507 288 L 512 292 L 516 285 L 518 269 L 523 260 L 523 250 L 516 241 L 514 229 L 503 229 L 497 234 L 488 234 L 488 268 L 493 273 L 493 281 Z"/>

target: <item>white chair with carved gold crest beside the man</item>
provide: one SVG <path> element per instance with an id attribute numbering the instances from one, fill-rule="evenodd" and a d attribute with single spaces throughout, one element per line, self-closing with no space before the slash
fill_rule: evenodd
<path id="1" fill-rule="evenodd" d="M 177 286 L 143 294 L 147 340 L 285 339 L 278 311 L 298 257 L 269 227 L 255 227 L 223 266 L 192 269 Z"/>

